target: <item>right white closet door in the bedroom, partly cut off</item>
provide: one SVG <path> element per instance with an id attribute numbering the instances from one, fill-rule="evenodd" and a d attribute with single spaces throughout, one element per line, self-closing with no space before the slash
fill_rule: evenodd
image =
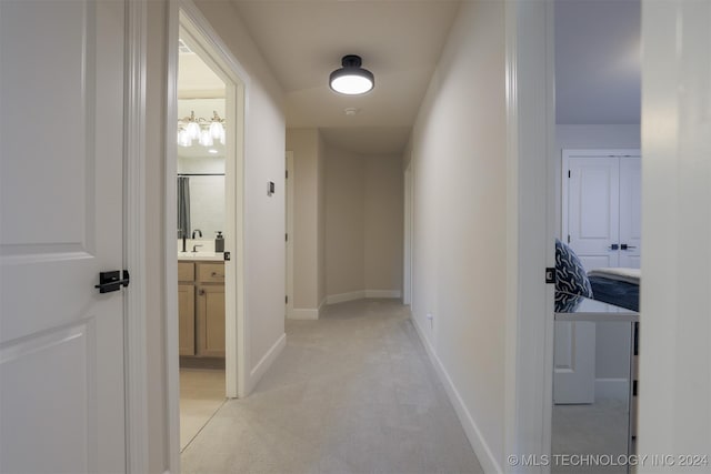
<path id="1" fill-rule="evenodd" d="M 639 158 L 620 158 L 620 266 L 640 268 L 642 180 Z"/>

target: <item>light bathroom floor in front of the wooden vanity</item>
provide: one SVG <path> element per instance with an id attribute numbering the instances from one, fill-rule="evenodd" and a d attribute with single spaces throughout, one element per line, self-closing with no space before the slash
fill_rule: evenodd
<path id="1" fill-rule="evenodd" d="M 180 370 L 180 451 L 224 403 L 224 371 Z"/>

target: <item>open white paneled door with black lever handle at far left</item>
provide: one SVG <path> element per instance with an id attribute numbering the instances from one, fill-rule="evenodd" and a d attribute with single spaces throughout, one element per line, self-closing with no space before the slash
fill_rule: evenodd
<path id="1" fill-rule="evenodd" d="M 0 472 L 124 472 L 121 0 L 0 1 Z"/>

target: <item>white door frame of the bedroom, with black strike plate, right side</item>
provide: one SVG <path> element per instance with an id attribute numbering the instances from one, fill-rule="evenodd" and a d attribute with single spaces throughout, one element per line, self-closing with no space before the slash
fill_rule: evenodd
<path id="1" fill-rule="evenodd" d="M 504 453 L 550 455 L 553 389 L 553 1 L 504 3 L 507 288 Z M 509 457 L 510 458 L 510 457 Z M 504 461 L 504 460 L 502 460 Z M 521 465 L 503 472 L 549 472 Z"/>

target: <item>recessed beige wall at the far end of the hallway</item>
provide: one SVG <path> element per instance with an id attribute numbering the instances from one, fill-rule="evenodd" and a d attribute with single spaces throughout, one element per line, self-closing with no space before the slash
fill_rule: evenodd
<path id="1" fill-rule="evenodd" d="M 398 295 L 402 289 L 402 158 L 327 147 L 326 161 L 327 294 Z"/>

